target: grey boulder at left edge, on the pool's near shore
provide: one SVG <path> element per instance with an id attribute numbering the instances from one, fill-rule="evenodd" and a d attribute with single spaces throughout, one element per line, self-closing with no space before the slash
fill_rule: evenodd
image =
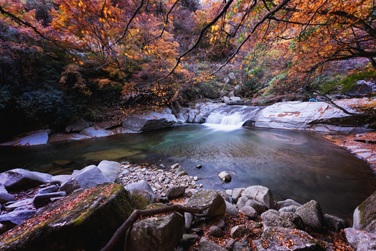
<path id="1" fill-rule="evenodd" d="M 0 183 L 6 190 L 27 190 L 44 183 L 49 183 L 52 178 L 50 174 L 31 172 L 25 169 L 12 169 L 0 174 Z"/>

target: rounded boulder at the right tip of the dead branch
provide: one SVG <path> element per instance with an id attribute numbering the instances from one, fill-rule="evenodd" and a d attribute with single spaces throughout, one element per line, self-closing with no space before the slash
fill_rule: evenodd
<path id="1" fill-rule="evenodd" d="M 225 199 L 213 190 L 202 189 L 188 199 L 188 205 L 194 208 L 209 206 L 200 216 L 215 217 L 223 215 L 226 211 Z"/>

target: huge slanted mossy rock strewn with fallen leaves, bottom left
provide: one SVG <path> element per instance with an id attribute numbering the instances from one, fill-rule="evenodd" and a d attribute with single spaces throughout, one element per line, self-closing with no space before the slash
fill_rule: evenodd
<path id="1" fill-rule="evenodd" d="M 97 185 L 46 206 L 0 236 L 0 250 L 100 250 L 132 212 L 122 185 Z"/>

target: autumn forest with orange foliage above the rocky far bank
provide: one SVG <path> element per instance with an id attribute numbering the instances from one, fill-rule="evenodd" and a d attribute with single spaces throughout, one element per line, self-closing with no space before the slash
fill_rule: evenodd
<path id="1" fill-rule="evenodd" d="M 376 77 L 375 18 L 374 0 L 1 0 L 1 140 L 237 85 L 343 93 Z"/>

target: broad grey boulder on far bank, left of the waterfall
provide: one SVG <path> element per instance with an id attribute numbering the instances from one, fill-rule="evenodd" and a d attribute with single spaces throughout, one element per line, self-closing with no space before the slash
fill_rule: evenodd
<path id="1" fill-rule="evenodd" d="M 121 123 L 121 126 L 136 132 L 141 132 L 170 127 L 176 122 L 176 117 L 172 114 L 171 109 L 166 108 L 162 112 L 151 112 L 140 116 L 129 116 Z"/>

